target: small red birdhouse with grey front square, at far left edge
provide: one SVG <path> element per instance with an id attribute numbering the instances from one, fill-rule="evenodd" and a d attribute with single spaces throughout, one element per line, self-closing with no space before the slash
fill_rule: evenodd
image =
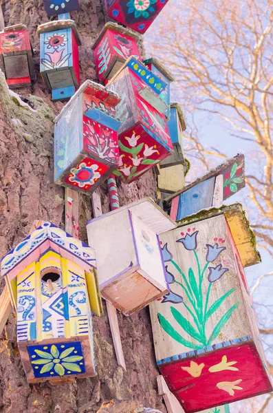
<path id="1" fill-rule="evenodd" d="M 0 32 L 0 69 L 10 89 L 31 85 L 34 79 L 30 35 L 24 24 Z"/>

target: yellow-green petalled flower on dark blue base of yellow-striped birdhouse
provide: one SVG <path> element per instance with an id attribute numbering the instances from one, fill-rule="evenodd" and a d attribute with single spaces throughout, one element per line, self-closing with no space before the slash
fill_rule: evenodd
<path id="1" fill-rule="evenodd" d="M 46 352 L 43 350 L 34 350 L 37 356 L 39 356 L 39 359 L 32 360 L 32 364 L 35 365 L 35 368 L 39 368 L 40 365 L 43 366 L 39 372 L 40 374 L 51 372 L 52 370 L 54 370 L 56 374 L 58 374 L 59 376 L 63 376 L 65 374 L 65 369 L 67 370 L 67 373 L 80 373 L 81 368 L 77 362 L 83 360 L 83 356 L 69 356 L 69 354 L 71 354 L 74 350 L 75 347 L 70 347 L 61 352 L 60 354 L 58 348 L 56 348 L 54 344 L 51 346 L 50 352 Z M 80 364 L 83 364 L 83 362 Z"/>

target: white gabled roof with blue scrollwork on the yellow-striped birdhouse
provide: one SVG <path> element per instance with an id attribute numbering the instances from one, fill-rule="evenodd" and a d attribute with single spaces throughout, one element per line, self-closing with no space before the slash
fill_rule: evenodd
<path id="1" fill-rule="evenodd" d="M 96 268 L 94 248 L 46 221 L 2 258 L 1 275 L 8 275 L 9 279 L 16 277 L 49 248 L 87 271 L 90 266 Z"/>

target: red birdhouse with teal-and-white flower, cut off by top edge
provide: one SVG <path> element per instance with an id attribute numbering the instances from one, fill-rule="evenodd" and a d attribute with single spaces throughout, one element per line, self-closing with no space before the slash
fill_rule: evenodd
<path id="1" fill-rule="evenodd" d="M 136 32 L 145 33 L 168 0 L 103 0 L 105 14 Z"/>

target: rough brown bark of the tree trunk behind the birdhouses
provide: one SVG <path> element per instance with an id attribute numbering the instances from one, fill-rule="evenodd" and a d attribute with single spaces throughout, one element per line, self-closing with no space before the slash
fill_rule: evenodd
<path id="1" fill-rule="evenodd" d="M 36 28 L 47 21 L 47 16 L 42 0 L 4 0 L 3 14 L 6 26 L 28 25 L 36 81 L 31 87 L 15 91 L 29 105 L 22 106 L 16 96 L 9 94 L 0 73 L 0 256 L 28 235 L 36 219 L 50 220 L 64 228 L 64 191 L 53 183 L 53 120 L 63 103 L 51 102 L 39 74 Z M 100 0 L 82 0 L 80 11 L 73 12 L 72 19 L 83 41 L 81 81 L 87 78 L 96 81 L 91 44 L 104 24 Z M 151 171 L 138 182 L 119 184 L 120 203 L 127 204 L 145 195 L 154 197 L 155 191 L 155 176 Z M 102 209 L 109 211 L 106 186 L 100 192 Z M 81 195 L 80 237 L 85 241 L 85 224 L 90 217 L 90 198 Z M 149 310 L 144 309 L 132 317 L 118 317 L 127 372 L 117 366 L 105 310 L 101 318 L 94 317 L 98 376 L 80 379 L 71 385 L 52 386 L 48 383 L 28 385 L 17 348 L 16 321 L 10 316 L 0 345 L 0 412 L 97 412 L 102 402 L 112 399 L 130 401 L 128 412 L 134 407 L 131 401 L 135 401 L 135 407 L 154 407 L 166 412 L 157 395 L 158 372 Z M 120 413 L 120 405 L 112 411 Z"/>

